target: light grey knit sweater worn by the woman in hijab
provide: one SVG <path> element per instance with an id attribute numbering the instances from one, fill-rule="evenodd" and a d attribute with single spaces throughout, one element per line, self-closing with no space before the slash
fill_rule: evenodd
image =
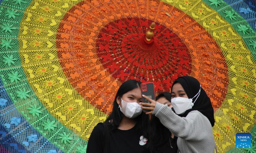
<path id="1" fill-rule="evenodd" d="M 212 126 L 202 113 L 192 111 L 186 117 L 180 117 L 167 105 L 156 102 L 153 114 L 178 137 L 181 153 L 214 153 Z"/>

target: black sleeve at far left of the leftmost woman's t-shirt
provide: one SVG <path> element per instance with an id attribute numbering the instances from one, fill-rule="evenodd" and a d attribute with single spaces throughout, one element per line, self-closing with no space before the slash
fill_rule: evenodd
<path id="1" fill-rule="evenodd" d="M 105 132 L 102 124 L 96 125 L 88 140 L 86 153 L 103 153 Z"/>

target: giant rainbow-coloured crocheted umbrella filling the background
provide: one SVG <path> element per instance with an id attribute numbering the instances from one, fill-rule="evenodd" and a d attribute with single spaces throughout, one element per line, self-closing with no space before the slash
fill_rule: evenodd
<path id="1" fill-rule="evenodd" d="M 85 152 L 125 80 L 159 93 L 183 75 L 211 98 L 219 152 L 255 152 L 255 0 L 0 3 L 0 152 Z"/>

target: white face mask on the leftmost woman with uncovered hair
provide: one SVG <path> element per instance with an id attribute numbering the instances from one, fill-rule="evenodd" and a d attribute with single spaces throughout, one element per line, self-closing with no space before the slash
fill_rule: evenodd
<path id="1" fill-rule="evenodd" d="M 140 107 L 140 105 L 136 102 L 126 102 L 121 98 L 121 103 L 122 103 L 122 107 L 120 107 L 120 111 L 128 118 L 135 118 L 137 116 L 139 116 L 142 112 L 142 108 Z"/>

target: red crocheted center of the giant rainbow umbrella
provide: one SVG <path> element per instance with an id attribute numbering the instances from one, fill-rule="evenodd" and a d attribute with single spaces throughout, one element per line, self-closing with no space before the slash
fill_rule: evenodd
<path id="1" fill-rule="evenodd" d="M 123 18 L 102 28 L 96 42 L 97 55 L 113 77 L 146 82 L 190 74 L 188 48 L 175 33 L 156 23 L 154 42 L 143 40 L 152 22 Z"/>

